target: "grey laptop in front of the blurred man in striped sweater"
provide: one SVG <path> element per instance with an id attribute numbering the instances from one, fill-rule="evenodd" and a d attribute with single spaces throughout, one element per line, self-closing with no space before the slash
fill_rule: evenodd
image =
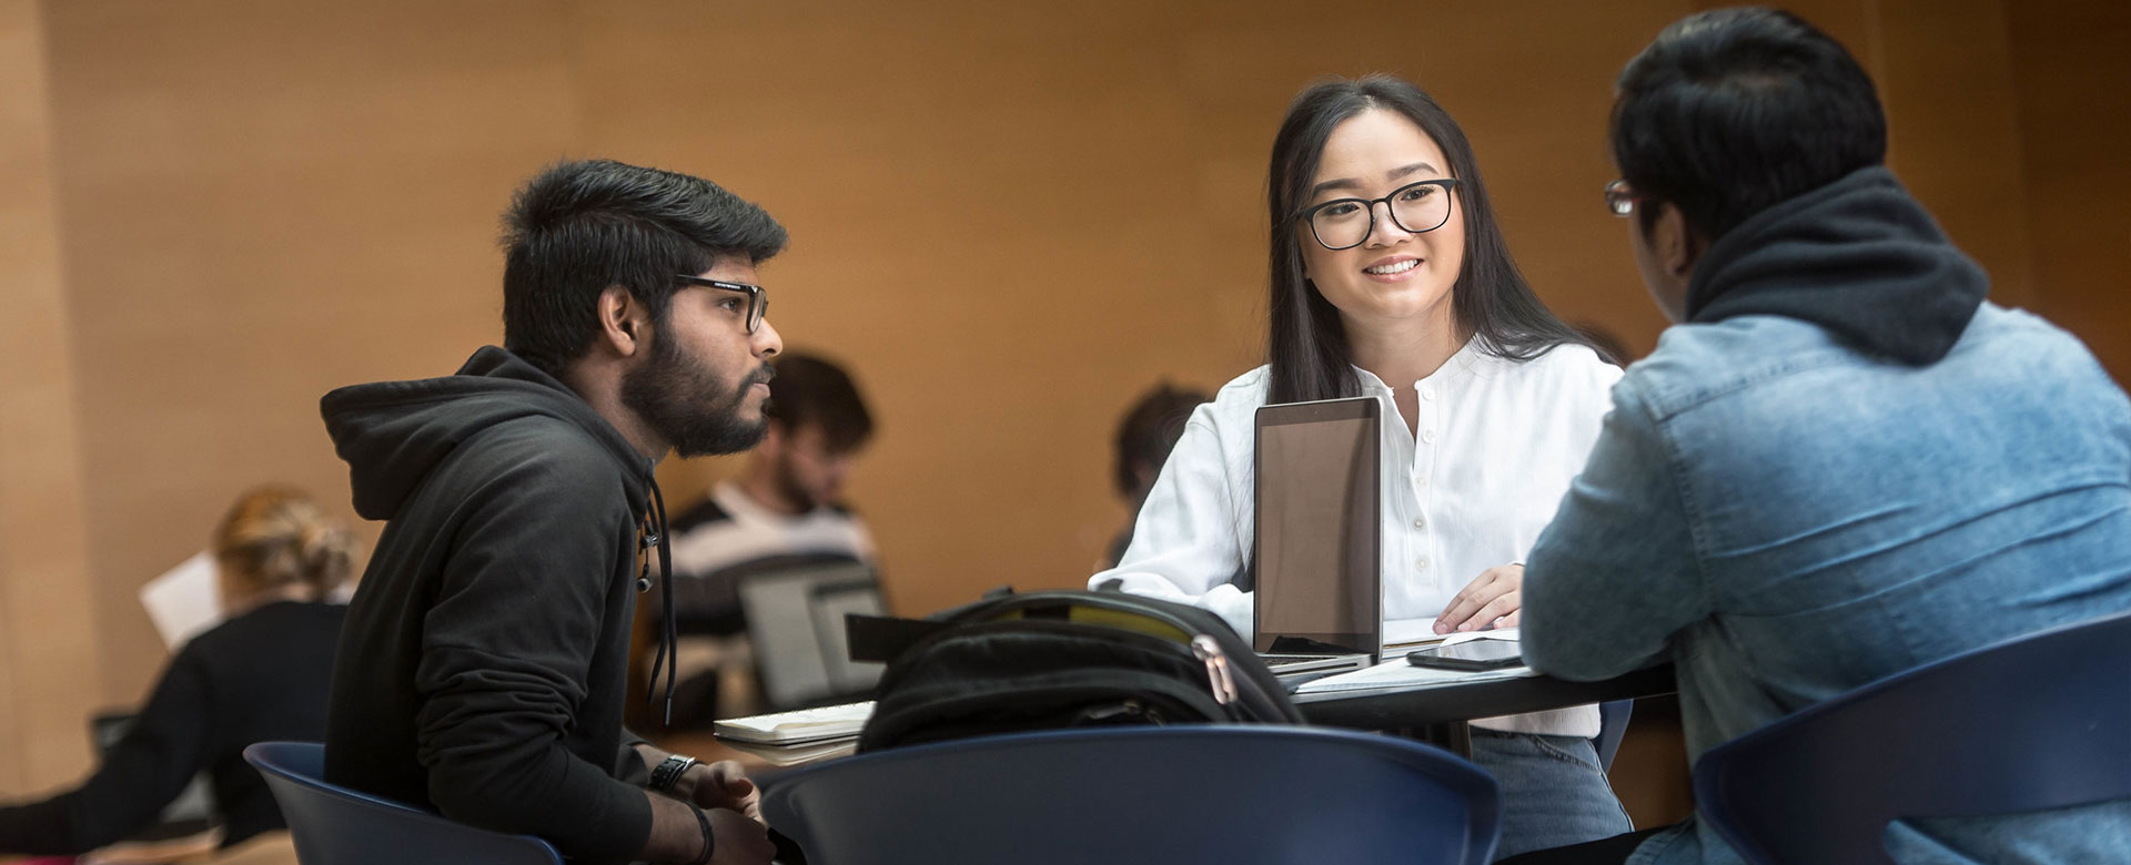
<path id="1" fill-rule="evenodd" d="M 850 660 L 844 614 L 880 616 L 880 580 L 859 560 L 799 562 L 739 577 L 763 697 L 771 707 L 848 701 L 880 680 Z"/>

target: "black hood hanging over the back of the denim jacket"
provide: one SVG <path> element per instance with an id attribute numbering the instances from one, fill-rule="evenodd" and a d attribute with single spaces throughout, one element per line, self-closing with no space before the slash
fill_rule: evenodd
<path id="1" fill-rule="evenodd" d="M 1688 281 L 1688 322 L 1784 315 L 1912 366 L 1946 358 L 1990 277 L 1882 166 L 1752 215 Z"/>

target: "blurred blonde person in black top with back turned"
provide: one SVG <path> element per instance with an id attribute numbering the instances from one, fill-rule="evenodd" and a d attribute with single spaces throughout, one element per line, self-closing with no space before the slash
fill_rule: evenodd
<path id="1" fill-rule="evenodd" d="M 222 624 L 192 637 L 134 727 L 81 786 L 0 807 L 0 852 L 70 856 L 117 842 L 209 773 L 222 848 L 283 829 L 243 761 L 266 739 L 324 739 L 332 652 L 347 607 L 324 599 L 354 571 L 356 541 L 303 492 L 245 492 L 215 526 Z"/>

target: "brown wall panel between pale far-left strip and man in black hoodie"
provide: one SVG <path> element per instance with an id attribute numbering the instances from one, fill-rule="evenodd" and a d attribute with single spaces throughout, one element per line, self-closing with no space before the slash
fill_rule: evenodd
<path id="1" fill-rule="evenodd" d="M 107 695 L 134 592 L 245 488 L 349 516 L 318 396 L 497 341 L 497 213 L 569 153 L 563 4 L 66 2 L 49 11 Z M 369 526 L 369 537 L 375 526 Z"/>

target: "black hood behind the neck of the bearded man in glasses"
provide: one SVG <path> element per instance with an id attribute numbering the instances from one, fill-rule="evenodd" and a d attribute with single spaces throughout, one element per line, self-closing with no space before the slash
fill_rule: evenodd
<path id="1" fill-rule="evenodd" d="M 377 381 L 318 401 L 332 450 L 347 460 L 356 513 L 390 520 L 460 441 L 520 418 L 575 424 L 622 469 L 629 501 L 646 503 L 654 462 L 556 377 L 516 354 L 486 345 L 441 379 Z"/>

